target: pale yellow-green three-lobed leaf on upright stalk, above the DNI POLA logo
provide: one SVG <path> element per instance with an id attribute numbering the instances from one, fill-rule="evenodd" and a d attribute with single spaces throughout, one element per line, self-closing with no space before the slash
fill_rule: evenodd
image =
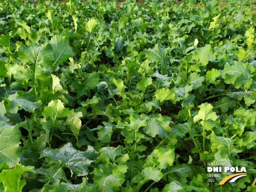
<path id="1" fill-rule="evenodd" d="M 215 121 L 218 117 L 215 112 L 212 111 L 213 107 L 208 102 L 205 102 L 198 106 L 200 108 L 198 115 L 194 117 L 194 123 L 199 120 L 213 120 Z"/>

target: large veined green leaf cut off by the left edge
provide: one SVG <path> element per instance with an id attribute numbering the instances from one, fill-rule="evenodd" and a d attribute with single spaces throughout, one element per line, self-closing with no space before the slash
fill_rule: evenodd
<path id="1" fill-rule="evenodd" d="M 14 167 L 20 162 L 21 132 L 17 126 L 11 126 L 9 119 L 0 115 L 0 164 Z"/>

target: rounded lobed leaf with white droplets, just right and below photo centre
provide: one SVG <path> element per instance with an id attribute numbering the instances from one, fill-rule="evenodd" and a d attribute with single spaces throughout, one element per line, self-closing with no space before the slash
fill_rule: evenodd
<path id="1" fill-rule="evenodd" d="M 170 133 L 172 130 L 169 126 L 169 124 L 172 122 L 172 119 L 167 116 L 162 117 L 162 115 L 159 113 L 150 115 L 146 121 L 148 126 L 144 127 L 143 130 L 151 137 L 159 135 L 159 137 L 163 139 L 167 137 L 168 133 Z"/>

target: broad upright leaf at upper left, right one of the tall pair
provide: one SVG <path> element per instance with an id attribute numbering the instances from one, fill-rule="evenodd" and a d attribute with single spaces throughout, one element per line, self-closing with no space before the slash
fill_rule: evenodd
<path id="1" fill-rule="evenodd" d="M 63 36 L 55 35 L 50 40 L 51 47 L 53 48 L 53 55 L 55 63 L 62 63 L 73 57 L 74 53 L 71 48 L 69 48 L 69 40 Z"/>

